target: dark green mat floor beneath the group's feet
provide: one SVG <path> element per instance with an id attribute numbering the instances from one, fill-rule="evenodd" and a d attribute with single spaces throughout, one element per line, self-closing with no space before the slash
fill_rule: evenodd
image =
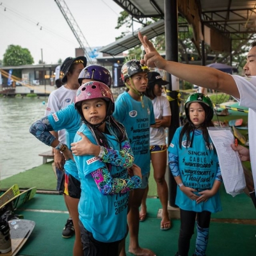
<path id="1" fill-rule="evenodd" d="M 223 212 L 212 214 L 207 256 L 255 255 L 256 215 L 250 198 L 246 195 L 232 198 L 227 194 L 221 197 Z M 147 207 L 147 220 L 140 223 L 140 245 L 150 248 L 157 256 L 174 255 L 177 251 L 180 220 L 172 220 L 172 228 L 162 231 L 160 230 L 161 219 L 157 218 L 157 212 L 161 209 L 159 199 L 148 198 Z M 23 214 L 24 219 L 33 220 L 36 223 L 33 233 L 20 250 L 19 255 L 72 256 L 74 237 L 70 239 L 61 237 L 63 225 L 68 218 L 63 196 L 36 194 L 33 199 L 22 205 L 17 213 Z M 252 223 L 222 222 L 223 219 L 228 218 L 230 221 L 232 218 L 251 220 Z M 104 228 L 104 223 L 102 223 L 102 228 Z M 195 250 L 195 236 L 191 239 L 189 255 L 192 255 Z M 128 244 L 129 236 L 126 241 L 127 248 Z M 127 255 L 131 254 L 127 253 Z"/>

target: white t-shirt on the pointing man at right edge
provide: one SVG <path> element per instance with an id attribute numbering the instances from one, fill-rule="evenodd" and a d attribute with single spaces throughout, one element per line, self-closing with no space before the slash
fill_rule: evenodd
<path id="1" fill-rule="evenodd" d="M 256 76 L 252 77 L 241 77 L 232 76 L 236 81 L 237 88 L 240 93 L 239 106 L 249 108 L 248 113 L 248 133 L 250 143 L 250 158 L 252 166 L 252 175 L 254 188 L 256 188 Z"/>

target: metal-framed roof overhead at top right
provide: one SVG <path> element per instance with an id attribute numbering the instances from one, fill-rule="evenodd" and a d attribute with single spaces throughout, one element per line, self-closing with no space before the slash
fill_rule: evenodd
<path id="1" fill-rule="evenodd" d="M 113 0 L 132 17 L 141 23 L 145 23 L 147 17 L 157 17 L 164 19 L 164 0 Z M 212 28 L 222 35 L 233 39 L 247 39 L 246 33 L 256 33 L 256 1 L 248 0 L 177 0 L 178 6 L 188 5 L 188 12 L 192 6 L 198 8 L 200 20 L 205 26 Z M 157 23 L 157 22 L 156 22 Z M 156 27 L 155 27 L 156 26 Z M 144 30 L 145 29 L 145 30 Z M 148 29 L 148 30 L 147 30 Z M 151 24 L 143 28 L 143 35 L 148 38 L 164 33 L 164 21 Z M 111 55 L 118 54 L 130 49 L 140 42 L 137 32 L 117 40 L 113 44 L 100 49 Z"/>

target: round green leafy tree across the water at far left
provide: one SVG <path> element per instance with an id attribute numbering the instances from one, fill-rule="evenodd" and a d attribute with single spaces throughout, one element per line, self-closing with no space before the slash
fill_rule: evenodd
<path id="1" fill-rule="evenodd" d="M 4 52 L 4 66 L 19 66 L 33 64 L 34 59 L 27 48 L 22 48 L 20 45 L 8 45 Z"/>

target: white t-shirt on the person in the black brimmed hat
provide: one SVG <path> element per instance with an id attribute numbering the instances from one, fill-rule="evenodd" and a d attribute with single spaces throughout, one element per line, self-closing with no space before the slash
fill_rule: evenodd
<path id="1" fill-rule="evenodd" d="M 50 93 L 44 115 L 50 115 L 60 109 L 63 109 L 75 101 L 77 90 L 69 90 L 65 86 L 61 86 L 57 90 Z M 66 143 L 65 130 L 58 131 L 59 141 Z"/>

